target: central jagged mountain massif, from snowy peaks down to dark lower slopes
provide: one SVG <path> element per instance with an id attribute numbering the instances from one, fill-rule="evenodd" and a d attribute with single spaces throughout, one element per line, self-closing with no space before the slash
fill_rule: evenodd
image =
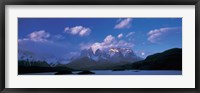
<path id="1" fill-rule="evenodd" d="M 67 64 L 67 67 L 78 70 L 111 69 L 116 66 L 143 60 L 128 48 L 110 48 L 107 50 L 92 48 L 81 51 L 79 57 Z"/>

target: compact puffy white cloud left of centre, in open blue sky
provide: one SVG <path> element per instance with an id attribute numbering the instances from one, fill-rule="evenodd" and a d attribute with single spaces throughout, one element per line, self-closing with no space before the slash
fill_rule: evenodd
<path id="1" fill-rule="evenodd" d="M 66 27 L 64 32 L 69 33 L 71 35 L 79 35 L 79 36 L 88 36 L 90 35 L 91 29 L 83 26 L 75 26 L 75 27 Z"/>

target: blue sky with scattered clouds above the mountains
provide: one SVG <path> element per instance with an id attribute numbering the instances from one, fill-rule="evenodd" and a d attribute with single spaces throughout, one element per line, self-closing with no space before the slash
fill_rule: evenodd
<path id="1" fill-rule="evenodd" d="M 182 18 L 18 18 L 18 49 L 67 58 L 92 47 L 138 56 L 182 48 Z"/>

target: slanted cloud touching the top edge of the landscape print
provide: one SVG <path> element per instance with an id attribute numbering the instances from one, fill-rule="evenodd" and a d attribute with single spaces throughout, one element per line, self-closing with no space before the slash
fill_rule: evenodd
<path id="1" fill-rule="evenodd" d="M 122 29 L 122 28 L 129 28 L 131 26 L 131 18 L 126 18 L 126 19 L 120 19 L 117 20 L 119 21 L 118 24 L 115 25 L 115 29 Z"/>

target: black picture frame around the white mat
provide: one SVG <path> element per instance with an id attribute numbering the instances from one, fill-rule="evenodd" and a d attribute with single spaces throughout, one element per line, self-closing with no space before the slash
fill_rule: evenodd
<path id="1" fill-rule="evenodd" d="M 5 88 L 6 5 L 195 5 L 195 88 Z M 0 0 L 0 91 L 1 93 L 199 93 L 199 25 L 200 0 Z"/>

